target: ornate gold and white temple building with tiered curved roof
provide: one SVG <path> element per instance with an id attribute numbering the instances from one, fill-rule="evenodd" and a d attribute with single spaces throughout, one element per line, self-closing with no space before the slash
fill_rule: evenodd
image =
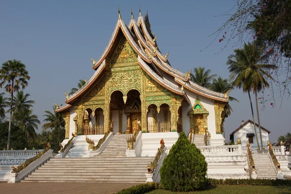
<path id="1" fill-rule="evenodd" d="M 132 12 L 131 12 L 132 14 Z M 228 94 L 217 93 L 191 81 L 170 65 L 148 16 L 127 25 L 119 14 L 113 35 L 98 60 L 95 73 L 56 112 L 65 119 L 65 138 L 72 133 L 96 135 L 181 132 L 210 133 L 210 145 L 223 145 L 223 123 Z"/>

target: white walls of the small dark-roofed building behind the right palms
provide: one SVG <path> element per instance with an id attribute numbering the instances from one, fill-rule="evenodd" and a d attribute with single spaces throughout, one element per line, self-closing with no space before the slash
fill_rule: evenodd
<path id="1" fill-rule="evenodd" d="M 258 147 L 256 135 L 259 138 L 259 146 L 260 146 L 259 126 L 257 126 L 256 129 L 257 129 L 257 134 L 255 133 L 253 123 L 251 123 L 251 122 L 247 123 L 240 130 L 238 130 L 237 132 L 235 132 L 233 134 L 233 138 L 234 138 L 233 141 L 236 142 L 238 140 L 238 138 L 240 138 L 241 142 L 242 142 L 242 146 L 246 146 L 246 143 L 248 141 L 246 133 L 255 133 L 255 136 L 253 136 L 254 143 L 253 144 L 250 143 L 250 146 L 252 148 L 255 148 L 255 150 L 256 150 Z M 267 142 L 269 140 L 269 134 L 264 129 L 261 129 L 261 133 L 262 133 L 263 146 L 267 147 Z"/>

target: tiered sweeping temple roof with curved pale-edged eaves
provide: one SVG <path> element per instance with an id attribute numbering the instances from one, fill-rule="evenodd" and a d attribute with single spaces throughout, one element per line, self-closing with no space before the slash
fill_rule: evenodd
<path id="1" fill-rule="evenodd" d="M 146 15 L 147 22 L 148 16 Z M 148 27 L 147 27 L 148 26 Z M 110 53 L 113 48 L 114 41 L 117 37 L 118 32 L 122 32 L 129 42 L 129 45 L 134 49 L 134 51 L 138 54 L 138 64 L 141 68 L 146 71 L 146 73 L 163 87 L 167 88 L 169 91 L 174 92 L 178 95 L 184 97 L 186 102 L 190 103 L 189 98 L 186 96 L 186 93 L 181 89 L 181 86 L 184 85 L 190 91 L 202 95 L 204 97 L 208 97 L 211 99 L 215 99 L 218 101 L 227 102 L 228 96 L 223 93 L 217 93 L 211 91 L 207 88 L 201 87 L 189 80 L 189 72 L 184 74 L 178 69 L 174 69 L 168 62 L 167 57 L 168 53 L 163 55 L 160 49 L 157 47 L 156 39 L 153 34 L 151 34 L 149 25 L 146 25 L 145 18 L 143 16 L 138 17 L 137 21 L 133 18 L 133 15 L 129 21 L 129 25 L 126 25 L 121 16 L 119 15 L 118 20 L 116 22 L 112 37 L 109 40 L 109 43 L 99 59 L 93 62 L 92 68 L 96 70 L 94 75 L 90 78 L 89 81 L 85 85 L 83 85 L 78 91 L 74 94 L 70 95 L 65 99 L 65 103 L 71 104 L 73 101 L 79 97 L 83 92 L 85 92 L 100 76 L 106 64 L 106 57 Z M 153 38 L 154 37 L 154 38 Z M 151 68 L 151 65 L 153 68 Z M 154 69 L 154 70 L 153 70 Z M 166 74 L 174 77 L 175 82 L 172 83 L 162 77 L 162 73 L 160 71 L 165 72 Z M 57 112 L 63 111 L 60 107 Z"/>

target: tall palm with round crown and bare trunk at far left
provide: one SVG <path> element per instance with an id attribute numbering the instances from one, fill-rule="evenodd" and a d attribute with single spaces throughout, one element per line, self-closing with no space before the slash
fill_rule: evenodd
<path id="1" fill-rule="evenodd" d="M 0 88 L 7 83 L 4 86 L 5 90 L 11 94 L 7 150 L 10 146 L 13 92 L 18 91 L 20 87 L 24 89 L 28 85 L 28 80 L 30 80 L 30 76 L 26 66 L 21 61 L 14 59 L 2 63 L 0 68 Z"/>

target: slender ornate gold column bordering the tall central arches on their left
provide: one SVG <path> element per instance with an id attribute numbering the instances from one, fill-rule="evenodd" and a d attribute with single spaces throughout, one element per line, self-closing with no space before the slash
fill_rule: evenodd
<path id="1" fill-rule="evenodd" d="M 105 101 L 104 101 L 104 132 L 107 132 L 108 129 L 110 128 L 110 125 L 109 125 L 109 117 L 110 117 L 110 100 L 111 100 L 111 97 L 110 97 L 110 94 L 109 94 L 109 87 L 110 87 L 110 81 L 109 81 L 109 78 L 110 78 L 110 74 L 109 72 L 106 72 L 106 75 L 105 75 L 105 92 L 104 92 L 104 97 L 105 97 Z"/>

